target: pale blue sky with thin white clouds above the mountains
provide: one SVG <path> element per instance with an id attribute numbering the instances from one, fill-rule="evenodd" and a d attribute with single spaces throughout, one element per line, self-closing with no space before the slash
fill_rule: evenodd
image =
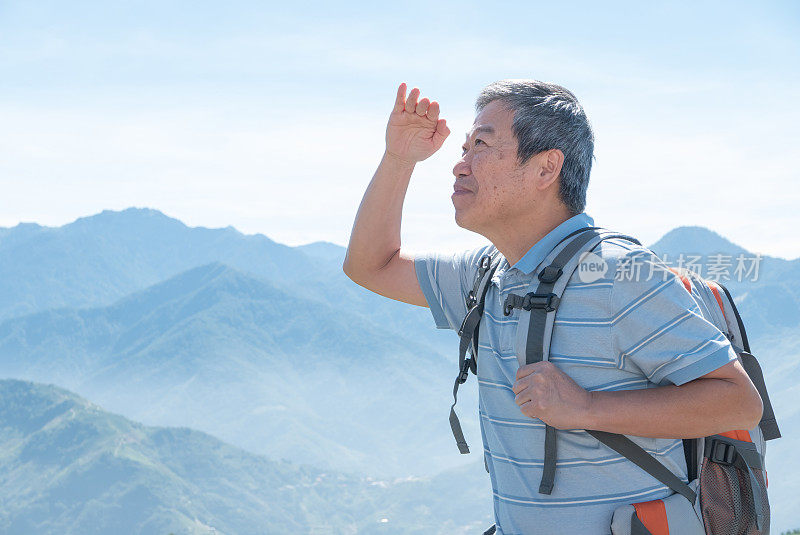
<path id="1" fill-rule="evenodd" d="M 474 98 L 537 78 L 592 121 L 596 224 L 800 257 L 796 3 L 108 4 L 0 0 L 0 226 L 149 206 L 346 245 L 405 81 L 453 134 L 412 178 L 404 247 L 473 247 L 450 193 Z"/>

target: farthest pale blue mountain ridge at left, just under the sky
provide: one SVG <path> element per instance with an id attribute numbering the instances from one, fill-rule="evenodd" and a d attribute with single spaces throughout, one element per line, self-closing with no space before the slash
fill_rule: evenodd
<path id="1" fill-rule="evenodd" d="M 110 305 L 215 261 L 281 284 L 327 272 L 326 262 L 263 234 L 189 227 L 152 208 L 104 210 L 61 227 L 21 229 L 0 231 L 0 257 L 13 259 L 0 263 L 0 319 Z"/>

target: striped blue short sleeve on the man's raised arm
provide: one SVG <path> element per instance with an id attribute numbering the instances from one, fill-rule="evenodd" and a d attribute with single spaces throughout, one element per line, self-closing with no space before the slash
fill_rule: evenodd
<path id="1" fill-rule="evenodd" d="M 480 258 L 491 245 L 456 253 L 425 252 L 414 256 L 422 293 L 437 329 L 458 331 L 467 314 L 467 294 L 478 273 Z"/>

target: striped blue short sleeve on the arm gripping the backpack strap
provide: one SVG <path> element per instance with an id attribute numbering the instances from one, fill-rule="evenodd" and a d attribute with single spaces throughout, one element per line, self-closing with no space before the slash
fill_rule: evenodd
<path id="1" fill-rule="evenodd" d="M 736 360 L 680 278 L 647 249 L 618 259 L 610 293 L 617 365 L 658 385 L 682 385 Z"/>

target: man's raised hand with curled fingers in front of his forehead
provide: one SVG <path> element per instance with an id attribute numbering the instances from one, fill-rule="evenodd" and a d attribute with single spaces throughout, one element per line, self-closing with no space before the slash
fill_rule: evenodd
<path id="1" fill-rule="evenodd" d="M 386 126 L 386 153 L 408 163 L 421 162 L 439 150 L 450 129 L 439 119 L 439 103 L 419 100 L 416 87 L 406 99 L 406 84 L 397 88 L 397 98 Z"/>

